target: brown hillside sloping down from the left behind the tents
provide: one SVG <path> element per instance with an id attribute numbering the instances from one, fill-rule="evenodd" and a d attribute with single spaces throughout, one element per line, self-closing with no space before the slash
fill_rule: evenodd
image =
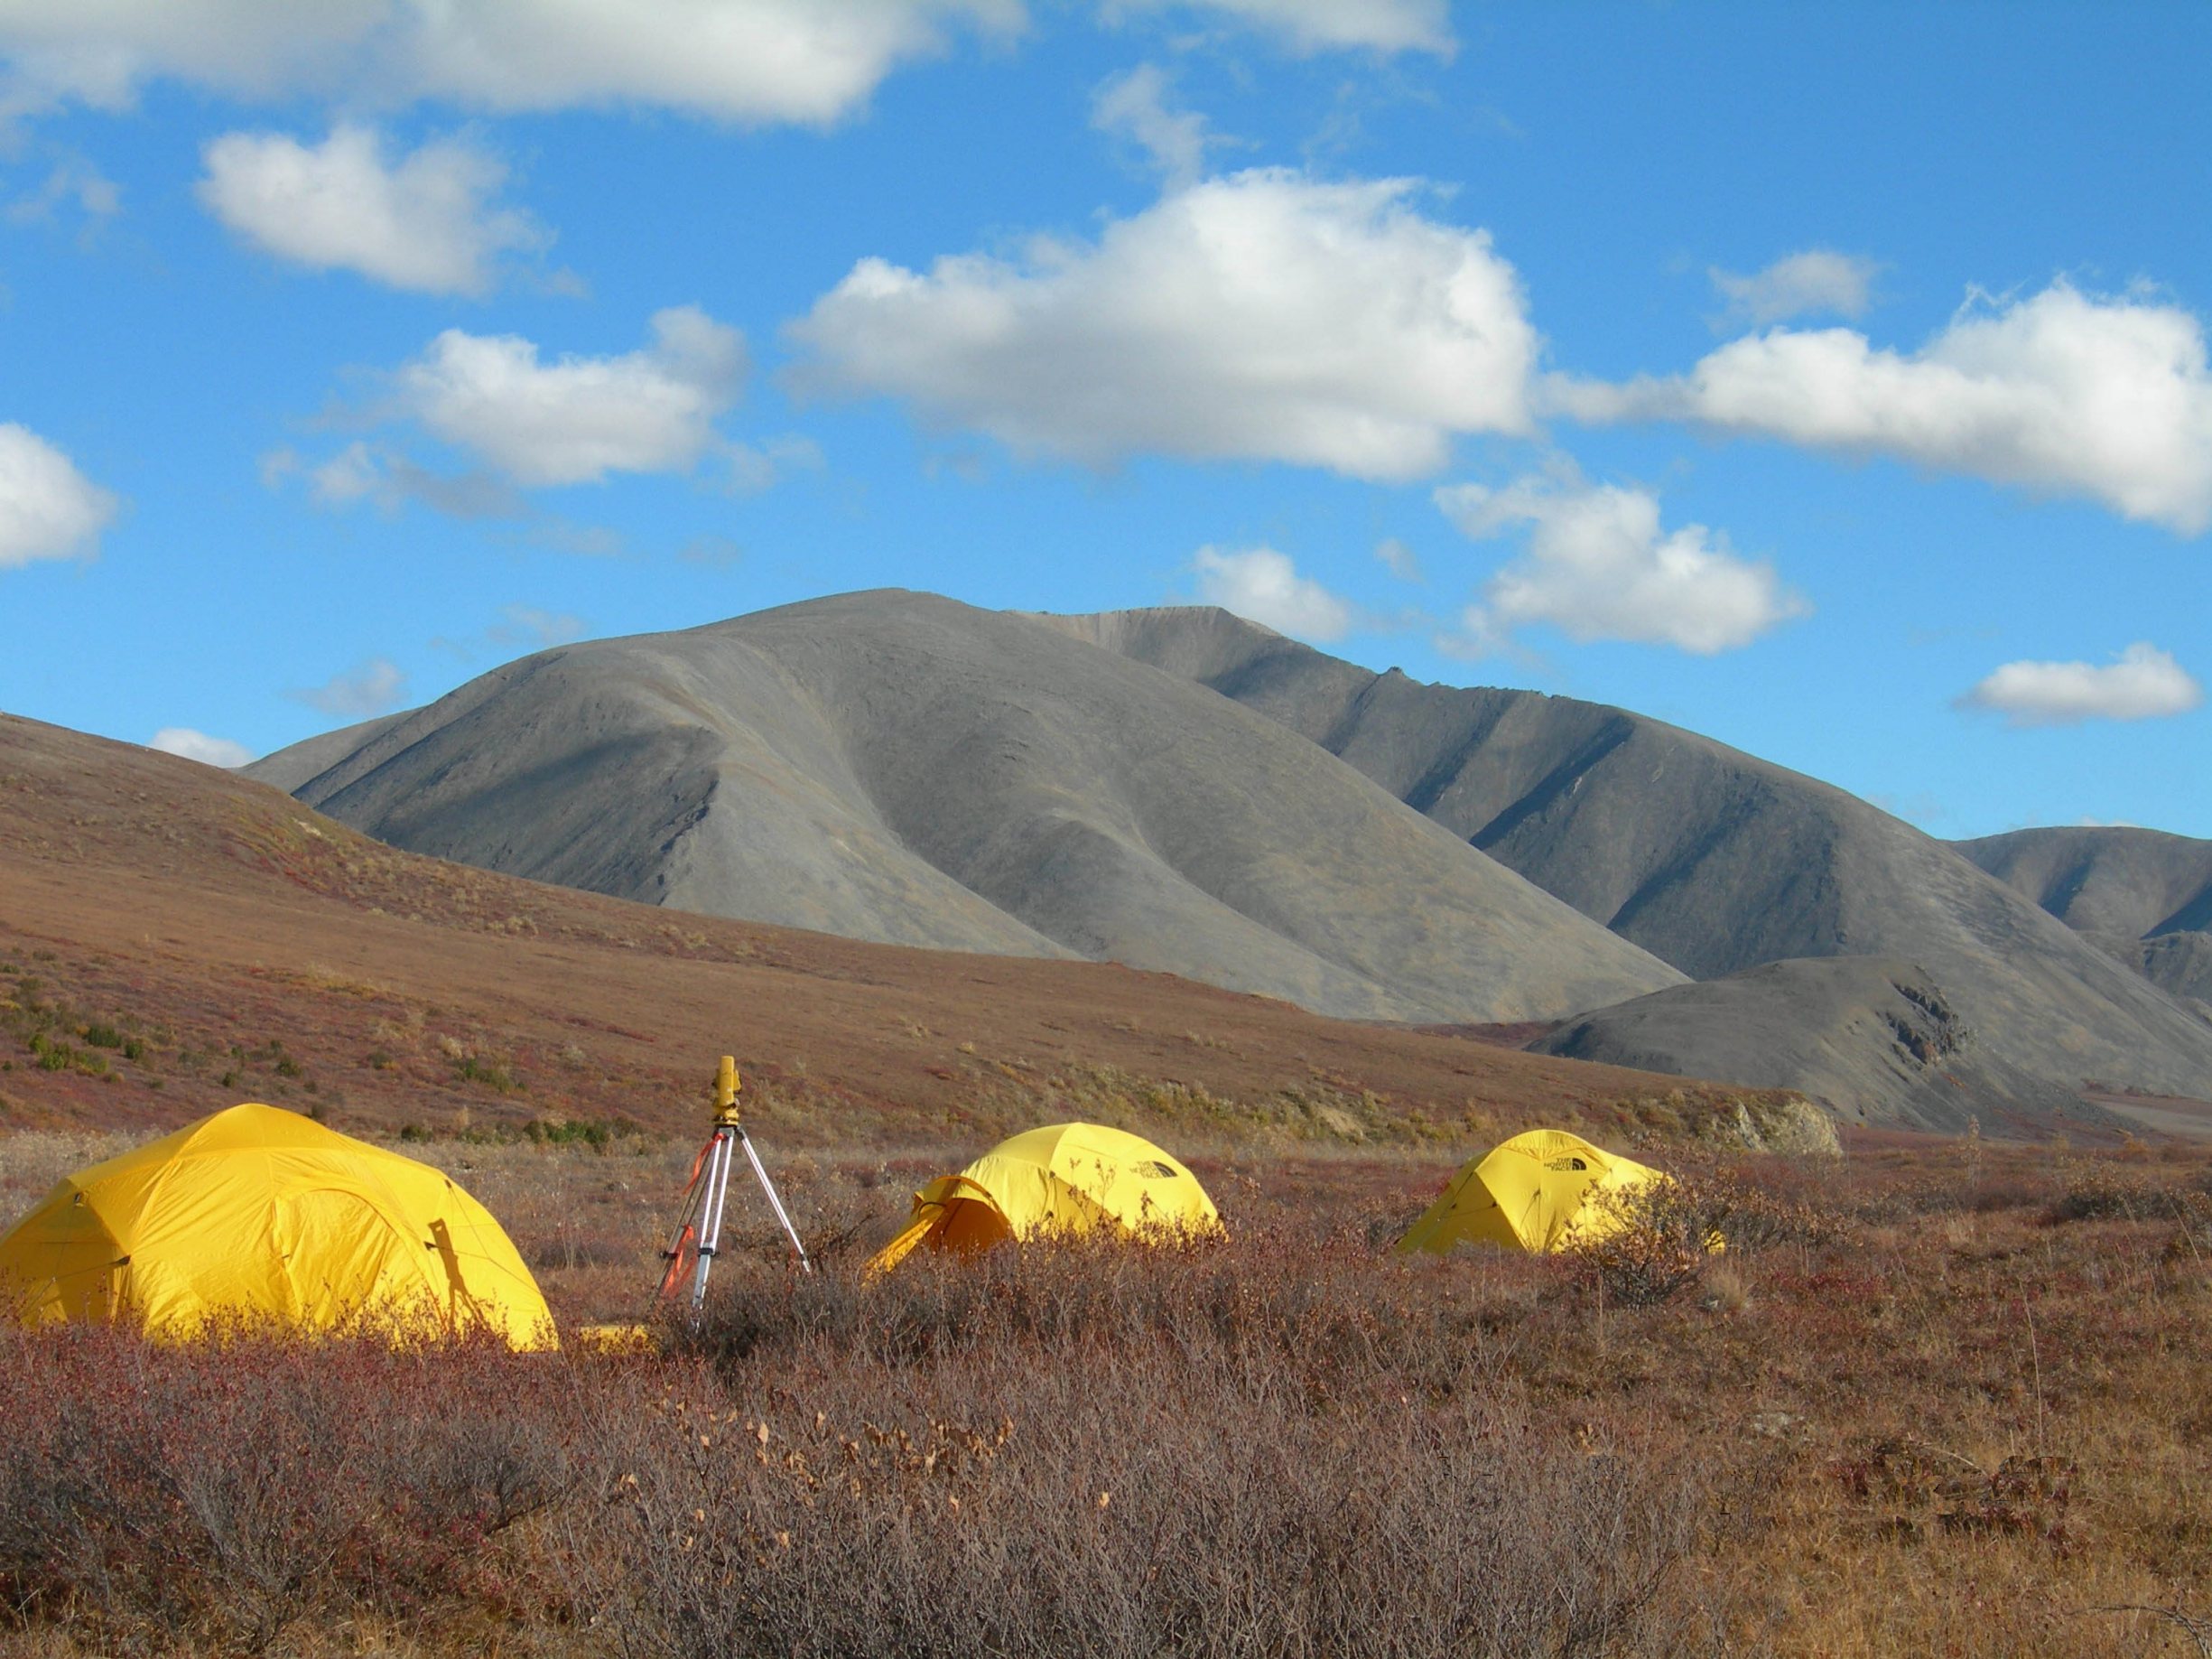
<path id="1" fill-rule="evenodd" d="M 785 1144 L 1051 1115 L 1458 1139 L 1781 1095 L 1325 1020 L 1115 964 L 858 945 L 394 852 L 272 787 L 0 717 L 0 1121 L 697 1121 L 734 1051 Z"/>

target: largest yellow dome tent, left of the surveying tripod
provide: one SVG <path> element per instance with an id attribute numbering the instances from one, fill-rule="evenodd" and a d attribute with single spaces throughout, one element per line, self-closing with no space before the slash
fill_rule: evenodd
<path id="1" fill-rule="evenodd" d="M 66 1177 L 0 1239 L 0 1305 L 27 1325 L 128 1321 L 161 1338 L 241 1318 L 557 1345 L 484 1206 L 276 1106 L 232 1106 Z"/>

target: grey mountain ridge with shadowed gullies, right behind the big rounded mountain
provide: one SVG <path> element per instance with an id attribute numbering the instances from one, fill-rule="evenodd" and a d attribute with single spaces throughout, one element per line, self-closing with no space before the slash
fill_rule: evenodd
<path id="1" fill-rule="evenodd" d="M 1601 703 L 1376 675 L 1225 611 L 1044 622 L 1281 721 L 1697 980 L 1902 958 L 2024 1073 L 2212 1095 L 2212 1022 L 1827 783 Z"/>

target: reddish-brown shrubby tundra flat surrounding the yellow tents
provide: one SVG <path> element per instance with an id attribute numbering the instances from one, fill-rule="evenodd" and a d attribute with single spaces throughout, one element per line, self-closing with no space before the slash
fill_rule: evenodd
<path id="1" fill-rule="evenodd" d="M 635 1307 L 688 1164 L 431 1152 L 566 1318 Z M 1217 1157 L 1228 1245 L 865 1285 L 958 1159 L 772 1159 L 825 1270 L 743 1194 L 664 1358 L 0 1336 L 9 1641 L 1995 1659 L 2212 1617 L 2203 1155 L 1692 1164 L 1668 1237 L 1734 1245 L 1626 1298 L 1389 1256 L 1438 1164 Z"/>

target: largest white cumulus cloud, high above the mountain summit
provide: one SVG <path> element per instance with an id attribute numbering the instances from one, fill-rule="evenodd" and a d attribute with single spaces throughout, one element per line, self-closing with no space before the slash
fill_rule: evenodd
<path id="1" fill-rule="evenodd" d="M 816 354 L 799 380 L 911 398 L 1024 453 L 1418 478 L 1453 434 L 1528 429 L 1537 334 L 1489 234 L 1413 195 L 1250 170 L 1022 263 L 863 259 L 792 325 Z"/>

